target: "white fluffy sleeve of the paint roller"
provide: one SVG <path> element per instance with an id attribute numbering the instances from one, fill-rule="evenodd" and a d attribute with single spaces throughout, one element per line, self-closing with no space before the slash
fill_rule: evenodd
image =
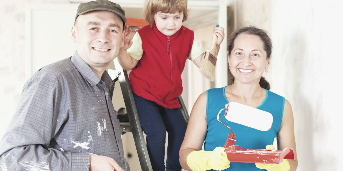
<path id="1" fill-rule="evenodd" d="M 260 131 L 268 131 L 272 127 L 273 115 L 267 111 L 236 102 L 226 104 L 225 108 L 228 109 L 225 111 L 225 118 L 228 121 Z"/>

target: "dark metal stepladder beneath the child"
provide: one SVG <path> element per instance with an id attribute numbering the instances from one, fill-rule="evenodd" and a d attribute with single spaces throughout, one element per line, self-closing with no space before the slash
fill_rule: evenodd
<path id="1" fill-rule="evenodd" d="M 117 74 L 116 79 L 119 80 L 121 92 L 123 94 L 124 103 L 126 106 L 126 111 L 129 117 L 129 122 L 120 122 L 120 129 L 122 132 L 132 132 L 133 140 L 137 149 L 137 154 L 139 158 L 139 162 L 141 164 L 142 171 L 153 171 L 151 167 L 151 162 L 149 158 L 149 154 L 147 152 L 146 143 L 143 136 L 143 130 L 141 127 L 141 123 L 138 118 L 137 108 L 134 103 L 134 98 L 131 90 L 131 85 L 129 82 L 129 77 L 126 70 L 123 70 L 122 67 L 119 65 L 117 58 L 114 60 L 115 68 Z M 113 94 L 113 86 L 111 88 L 110 95 L 112 97 Z M 188 123 L 189 115 L 182 100 L 182 97 L 178 97 L 179 103 L 181 105 L 180 110 Z"/>

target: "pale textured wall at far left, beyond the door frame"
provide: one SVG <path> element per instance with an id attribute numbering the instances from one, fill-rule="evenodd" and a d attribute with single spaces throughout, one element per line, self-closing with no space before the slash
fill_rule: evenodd
<path id="1" fill-rule="evenodd" d="M 25 4 L 68 0 L 10 0 L 0 4 L 0 137 L 5 132 L 25 83 Z"/>

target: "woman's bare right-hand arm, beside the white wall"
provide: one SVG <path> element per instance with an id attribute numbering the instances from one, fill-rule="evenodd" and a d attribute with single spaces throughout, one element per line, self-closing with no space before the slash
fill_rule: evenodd
<path id="1" fill-rule="evenodd" d="M 294 119 L 292 106 L 287 100 L 285 100 L 281 127 L 279 132 L 277 132 L 276 140 L 278 149 L 284 149 L 286 147 L 293 148 L 294 160 L 288 160 L 288 162 L 290 166 L 289 171 L 295 171 L 298 167 L 298 159 L 295 146 Z"/>

